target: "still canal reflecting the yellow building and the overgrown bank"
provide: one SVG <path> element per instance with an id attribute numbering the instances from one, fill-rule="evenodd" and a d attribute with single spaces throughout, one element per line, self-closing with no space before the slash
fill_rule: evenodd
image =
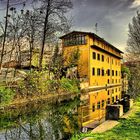
<path id="1" fill-rule="evenodd" d="M 70 140 L 105 120 L 106 106 L 121 100 L 121 86 L 61 100 L 39 100 L 0 110 L 0 140 Z"/>

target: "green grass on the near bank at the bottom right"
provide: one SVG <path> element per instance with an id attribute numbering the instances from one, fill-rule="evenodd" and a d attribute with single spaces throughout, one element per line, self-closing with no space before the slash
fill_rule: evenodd
<path id="1" fill-rule="evenodd" d="M 140 98 L 134 105 L 135 111 L 127 119 L 120 119 L 119 125 L 104 133 L 80 133 L 74 135 L 71 140 L 140 140 Z"/>

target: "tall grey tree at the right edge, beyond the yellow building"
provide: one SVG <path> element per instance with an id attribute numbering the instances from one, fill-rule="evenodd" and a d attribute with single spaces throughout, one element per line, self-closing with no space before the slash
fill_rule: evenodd
<path id="1" fill-rule="evenodd" d="M 133 17 L 129 24 L 128 47 L 126 48 L 127 65 L 130 70 L 129 94 L 134 98 L 140 91 L 140 13 Z"/>

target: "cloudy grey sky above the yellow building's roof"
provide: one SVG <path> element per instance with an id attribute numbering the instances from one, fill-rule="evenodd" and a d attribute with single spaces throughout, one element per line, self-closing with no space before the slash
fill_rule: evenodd
<path id="1" fill-rule="evenodd" d="M 13 2 L 23 0 L 12 0 Z M 140 0 L 71 0 L 73 8 L 68 13 L 72 17 L 72 30 L 94 32 L 115 47 L 125 51 L 128 39 L 128 24 L 136 11 L 140 10 Z M 0 18 L 4 6 L 0 5 Z"/>

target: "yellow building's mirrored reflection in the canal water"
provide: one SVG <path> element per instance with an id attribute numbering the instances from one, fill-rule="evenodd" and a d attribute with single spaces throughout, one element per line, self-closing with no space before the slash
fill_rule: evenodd
<path id="1" fill-rule="evenodd" d="M 107 90 L 103 89 L 100 91 L 89 92 L 89 104 L 82 107 L 82 126 L 86 126 L 90 122 L 94 122 L 105 117 L 108 99 L 110 99 L 110 104 L 116 102 L 116 96 L 118 99 L 121 99 L 121 90 L 121 86 L 117 86 L 108 88 Z M 104 105 L 102 105 L 102 101 L 104 101 Z M 100 108 L 97 107 L 99 102 Z M 83 113 L 85 111 L 87 113 Z"/>

